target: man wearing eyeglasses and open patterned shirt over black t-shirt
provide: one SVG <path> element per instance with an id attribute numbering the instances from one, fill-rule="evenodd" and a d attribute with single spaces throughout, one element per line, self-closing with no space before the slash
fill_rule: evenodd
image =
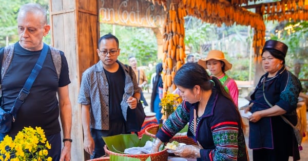
<path id="1" fill-rule="evenodd" d="M 140 100 L 136 75 L 118 60 L 119 40 L 106 34 L 99 40 L 100 61 L 82 75 L 78 102 L 81 103 L 84 149 L 92 158 L 105 155 L 102 136 L 125 134 L 127 108 Z"/>

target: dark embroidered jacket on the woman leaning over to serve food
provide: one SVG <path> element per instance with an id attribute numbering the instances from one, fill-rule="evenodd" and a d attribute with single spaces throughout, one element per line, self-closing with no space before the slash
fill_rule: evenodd
<path id="1" fill-rule="evenodd" d="M 156 136 L 162 142 L 168 142 L 187 123 L 191 123 L 197 107 L 198 103 L 183 101 Z M 248 160 L 241 117 L 236 108 L 232 101 L 218 94 L 216 89 L 213 90 L 200 117 L 196 135 L 190 130 L 187 132 L 187 136 L 198 141 L 203 148 L 197 160 Z"/>

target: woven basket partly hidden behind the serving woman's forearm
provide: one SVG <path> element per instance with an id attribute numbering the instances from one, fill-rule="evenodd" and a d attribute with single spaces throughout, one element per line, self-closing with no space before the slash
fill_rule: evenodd
<path id="1" fill-rule="evenodd" d="M 153 138 L 156 138 L 155 134 L 158 132 L 159 125 L 153 125 L 145 129 L 145 134 Z M 177 141 L 179 143 L 184 143 L 186 145 L 197 145 L 194 139 L 188 137 L 187 135 L 173 136 L 169 142 Z"/>

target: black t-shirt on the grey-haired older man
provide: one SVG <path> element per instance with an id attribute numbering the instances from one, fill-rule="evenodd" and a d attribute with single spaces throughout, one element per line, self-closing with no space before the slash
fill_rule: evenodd
<path id="1" fill-rule="evenodd" d="M 14 45 L 13 59 L 2 80 L 3 108 L 8 111 L 20 90 L 29 77 L 41 51 L 28 51 L 17 42 Z M 70 83 L 68 64 L 64 53 L 61 52 L 62 69 L 58 81 L 57 73 L 48 50 L 42 70 L 34 81 L 25 102 L 17 112 L 10 135 L 15 135 L 24 127 L 42 127 L 46 135 L 60 132 L 59 106 L 56 98 L 58 87 Z"/>

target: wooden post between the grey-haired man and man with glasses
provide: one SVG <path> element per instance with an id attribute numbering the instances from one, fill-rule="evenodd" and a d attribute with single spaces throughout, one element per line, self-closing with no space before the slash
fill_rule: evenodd
<path id="1" fill-rule="evenodd" d="M 78 94 L 82 73 L 98 61 L 98 1 L 50 0 L 51 43 L 68 61 L 72 104 L 71 160 L 85 160 L 81 106 Z"/>

